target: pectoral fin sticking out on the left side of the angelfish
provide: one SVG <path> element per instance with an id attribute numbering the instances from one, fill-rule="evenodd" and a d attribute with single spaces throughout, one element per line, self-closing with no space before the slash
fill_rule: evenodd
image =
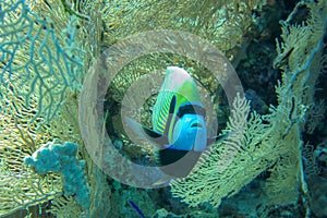
<path id="1" fill-rule="evenodd" d="M 167 136 L 155 132 L 154 130 L 138 123 L 137 121 L 129 117 L 124 117 L 124 120 L 129 129 L 132 130 L 132 132 L 146 140 L 148 143 L 156 144 L 159 147 L 162 147 L 164 145 L 168 144 Z"/>

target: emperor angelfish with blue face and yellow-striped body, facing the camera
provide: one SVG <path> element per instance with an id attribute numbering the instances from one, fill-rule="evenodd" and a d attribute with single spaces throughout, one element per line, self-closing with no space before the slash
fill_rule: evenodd
<path id="1" fill-rule="evenodd" d="M 207 136 L 206 111 L 191 75 L 178 66 L 168 66 L 153 109 L 153 129 L 126 118 L 134 131 L 157 144 L 156 164 L 174 178 L 186 177 L 215 138 Z"/>

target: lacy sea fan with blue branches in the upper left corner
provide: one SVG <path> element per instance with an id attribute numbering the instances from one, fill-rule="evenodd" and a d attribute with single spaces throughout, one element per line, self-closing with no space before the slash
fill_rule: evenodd
<path id="1" fill-rule="evenodd" d="M 37 98 L 32 121 L 41 116 L 49 122 L 65 94 L 81 85 L 84 53 L 77 40 L 76 17 L 60 13 L 63 9 L 58 3 L 35 9 L 32 11 L 23 0 L 1 1 L 0 82 L 24 86 L 16 94 L 26 107 L 31 107 L 33 96 Z M 44 13 L 49 14 L 45 17 Z"/>

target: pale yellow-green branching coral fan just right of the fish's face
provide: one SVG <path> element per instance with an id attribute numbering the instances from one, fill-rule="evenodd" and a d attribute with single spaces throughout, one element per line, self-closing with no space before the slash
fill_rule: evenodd
<path id="1" fill-rule="evenodd" d="M 278 154 L 271 154 L 274 144 L 264 143 L 270 126 L 263 123 L 259 114 L 250 113 L 249 102 L 239 96 L 233 106 L 227 142 L 213 145 L 193 173 L 171 183 L 173 195 L 183 196 L 191 206 L 203 202 L 219 206 L 222 197 L 238 193 Z"/>

